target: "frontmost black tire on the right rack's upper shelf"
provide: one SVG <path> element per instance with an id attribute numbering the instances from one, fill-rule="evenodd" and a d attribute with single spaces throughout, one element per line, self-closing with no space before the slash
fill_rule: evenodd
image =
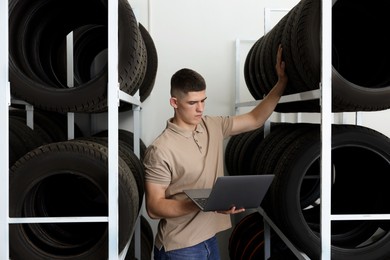
<path id="1" fill-rule="evenodd" d="M 387 1 L 366 5 L 338 0 L 333 5 L 332 94 L 346 111 L 390 107 L 389 55 L 378 48 L 389 42 L 383 33 L 388 10 Z"/>

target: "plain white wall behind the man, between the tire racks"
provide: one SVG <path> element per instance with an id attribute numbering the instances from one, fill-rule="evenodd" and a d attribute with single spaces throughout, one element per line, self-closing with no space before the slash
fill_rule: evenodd
<path id="1" fill-rule="evenodd" d="M 206 113 L 234 113 L 235 40 L 258 39 L 264 33 L 264 8 L 292 8 L 294 0 L 130 1 L 137 19 L 149 29 L 158 52 L 152 94 L 143 103 L 142 139 L 149 144 L 172 116 L 170 78 L 188 67 L 207 82 Z M 249 46 L 249 45 L 247 45 Z M 247 47 L 246 46 L 246 47 Z"/>

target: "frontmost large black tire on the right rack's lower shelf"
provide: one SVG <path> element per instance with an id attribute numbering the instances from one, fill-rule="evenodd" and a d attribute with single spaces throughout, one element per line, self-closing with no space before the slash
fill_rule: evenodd
<path id="1" fill-rule="evenodd" d="M 332 133 L 332 214 L 384 213 L 383 198 L 389 196 L 384 183 L 390 178 L 390 140 L 372 129 L 352 125 L 334 125 Z M 305 176 L 319 174 L 320 143 L 318 127 L 283 147 L 271 190 L 273 205 L 277 205 L 273 207 L 275 222 L 311 259 L 320 257 L 320 234 L 313 228 L 319 225 L 319 218 L 316 223 L 313 218 L 308 222 L 301 189 L 310 184 Z M 332 224 L 332 259 L 386 259 L 390 233 L 385 230 L 373 237 L 381 228 L 380 221 L 371 220 Z"/>

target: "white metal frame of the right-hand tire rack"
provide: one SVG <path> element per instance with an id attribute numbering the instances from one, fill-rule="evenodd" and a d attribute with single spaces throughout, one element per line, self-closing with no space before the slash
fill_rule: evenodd
<path id="1" fill-rule="evenodd" d="M 331 46 L 332 46 L 332 5 L 334 0 L 321 0 L 322 4 L 322 27 L 321 27 L 321 39 L 322 39 L 322 49 L 321 49 L 321 83 L 320 89 L 314 91 L 308 91 L 298 94 L 285 95 L 280 99 L 280 103 L 297 101 L 297 100 L 309 100 L 309 99 L 319 99 L 321 106 L 321 260 L 330 260 L 331 259 L 331 242 L 330 242 L 330 222 L 331 215 L 330 204 L 331 204 L 331 124 L 332 124 L 332 62 L 331 62 Z M 271 9 L 267 9 L 271 11 Z M 269 16 L 265 15 L 265 30 L 267 31 L 267 23 L 269 22 Z M 267 20 L 268 19 L 268 20 Z M 236 41 L 236 105 L 238 107 L 242 106 L 253 106 L 258 102 L 246 102 L 238 103 L 239 100 L 239 47 L 240 40 Z M 238 49 L 237 49 L 238 48 Z M 265 125 L 265 133 L 267 132 L 267 124 Z M 259 208 L 260 214 L 264 217 L 264 233 L 265 233 L 265 259 L 268 259 L 270 256 L 270 242 L 269 242 L 269 227 L 273 227 L 277 234 L 283 239 L 286 245 L 291 249 L 291 251 L 299 259 L 310 259 L 304 253 L 299 251 L 288 239 L 283 235 L 283 233 L 273 224 L 272 220 L 264 213 L 264 211 Z M 332 220 L 335 220 L 333 218 Z M 343 220 L 347 219 L 345 217 L 341 218 Z M 366 219 L 366 218 L 365 218 Z"/>

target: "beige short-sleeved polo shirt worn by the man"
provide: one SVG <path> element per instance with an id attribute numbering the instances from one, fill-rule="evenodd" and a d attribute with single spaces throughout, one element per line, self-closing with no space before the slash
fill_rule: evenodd
<path id="1" fill-rule="evenodd" d="M 204 116 L 195 131 L 188 131 L 168 120 L 145 153 L 145 180 L 168 184 L 166 197 L 179 200 L 187 198 L 184 189 L 211 188 L 224 175 L 223 141 L 232 125 L 228 116 Z M 155 245 L 166 251 L 193 246 L 230 227 L 230 216 L 215 212 L 161 219 Z"/>

